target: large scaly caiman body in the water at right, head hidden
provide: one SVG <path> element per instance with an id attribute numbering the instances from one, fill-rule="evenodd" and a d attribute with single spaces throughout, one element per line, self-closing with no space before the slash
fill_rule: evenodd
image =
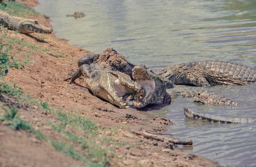
<path id="1" fill-rule="evenodd" d="M 223 61 L 182 63 L 167 67 L 156 74 L 171 80 L 173 84 L 202 87 L 220 84 L 246 85 L 256 81 L 256 69 Z"/>

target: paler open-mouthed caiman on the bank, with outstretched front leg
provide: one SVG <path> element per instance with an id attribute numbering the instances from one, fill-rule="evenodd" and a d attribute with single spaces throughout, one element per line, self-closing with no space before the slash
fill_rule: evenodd
<path id="1" fill-rule="evenodd" d="M 82 75 L 85 86 L 94 96 L 103 98 L 120 108 L 132 106 L 131 100 L 140 100 L 146 94 L 146 90 L 134 84 L 128 75 L 99 67 L 97 63 L 81 65 L 64 81 L 69 80 L 69 83 L 74 83 L 75 79 Z"/>

